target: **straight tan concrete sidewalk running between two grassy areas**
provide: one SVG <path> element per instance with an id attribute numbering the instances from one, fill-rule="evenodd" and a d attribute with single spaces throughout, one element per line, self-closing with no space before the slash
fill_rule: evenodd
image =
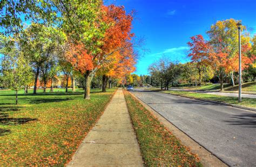
<path id="1" fill-rule="evenodd" d="M 122 89 L 117 90 L 67 166 L 143 166 Z"/>

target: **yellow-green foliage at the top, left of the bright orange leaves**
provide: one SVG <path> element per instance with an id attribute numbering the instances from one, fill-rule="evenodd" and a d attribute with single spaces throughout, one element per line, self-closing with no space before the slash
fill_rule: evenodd
<path id="1" fill-rule="evenodd" d="M 86 1 L 53 1 L 58 9 L 62 30 L 68 35 L 70 42 L 83 43 L 84 49 L 96 55 L 101 52 L 102 39 L 109 26 L 103 21 L 102 0 Z"/>

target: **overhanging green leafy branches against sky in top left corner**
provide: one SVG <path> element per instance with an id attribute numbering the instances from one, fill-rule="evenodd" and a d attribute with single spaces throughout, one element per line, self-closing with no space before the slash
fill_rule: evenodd
<path id="1" fill-rule="evenodd" d="M 57 11 L 51 0 L 44 1 L 12 1 L 0 3 L 0 26 L 5 34 L 18 33 L 23 29 L 22 20 L 42 24 L 52 24 L 56 21 Z"/>

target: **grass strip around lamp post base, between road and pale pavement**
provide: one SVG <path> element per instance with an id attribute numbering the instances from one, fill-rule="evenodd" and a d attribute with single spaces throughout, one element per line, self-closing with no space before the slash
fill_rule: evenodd
<path id="1" fill-rule="evenodd" d="M 187 91 L 171 91 L 171 90 L 165 91 L 165 90 L 163 90 L 161 92 L 170 93 L 172 95 L 189 97 L 189 98 L 219 101 L 219 102 L 223 102 L 223 103 L 229 103 L 229 104 L 241 105 L 241 106 L 245 106 L 245 107 L 256 108 L 256 99 L 252 99 L 252 98 L 242 98 L 242 102 L 238 103 L 237 97 L 209 95 L 209 94 L 205 94 L 205 93 L 196 93 L 196 92 L 187 92 Z"/>

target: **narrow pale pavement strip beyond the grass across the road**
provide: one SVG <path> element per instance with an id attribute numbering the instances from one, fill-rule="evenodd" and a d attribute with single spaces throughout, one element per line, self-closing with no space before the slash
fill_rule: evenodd
<path id="1" fill-rule="evenodd" d="M 190 91 L 190 92 L 206 93 L 206 94 L 211 94 L 211 95 L 238 97 L 238 93 L 210 92 L 210 91 L 188 90 L 188 89 L 183 89 L 182 90 L 182 89 L 174 89 L 174 88 L 170 89 L 170 90 L 174 90 L 174 91 Z M 242 97 L 256 99 L 256 95 L 252 95 L 252 94 L 244 94 L 244 93 L 242 93 Z"/>

